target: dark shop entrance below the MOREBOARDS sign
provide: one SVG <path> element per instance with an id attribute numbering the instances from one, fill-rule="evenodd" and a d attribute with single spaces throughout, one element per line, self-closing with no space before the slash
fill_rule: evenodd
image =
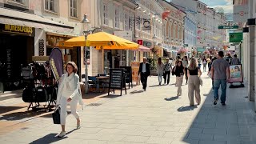
<path id="1" fill-rule="evenodd" d="M 34 37 L 0 34 L 0 82 L 6 90 L 22 88 L 21 68 L 32 62 Z"/>

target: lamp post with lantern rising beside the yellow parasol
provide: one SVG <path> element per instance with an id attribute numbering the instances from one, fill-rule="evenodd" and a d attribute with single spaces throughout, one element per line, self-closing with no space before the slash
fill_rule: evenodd
<path id="1" fill-rule="evenodd" d="M 82 23 L 86 23 L 87 25 L 90 23 L 90 21 L 87 19 L 86 14 L 84 15 Z M 85 43 L 86 43 L 87 36 L 88 36 L 88 34 L 90 34 L 90 30 L 86 31 L 86 28 L 85 28 L 85 30 L 83 31 L 83 34 L 85 34 Z M 85 54 L 85 57 L 86 57 L 86 71 L 85 71 L 86 72 L 85 73 L 85 85 L 86 85 L 86 87 L 85 87 L 85 92 L 88 93 L 88 64 L 87 64 L 87 46 L 86 45 L 84 46 L 84 50 L 85 50 L 84 54 Z"/>

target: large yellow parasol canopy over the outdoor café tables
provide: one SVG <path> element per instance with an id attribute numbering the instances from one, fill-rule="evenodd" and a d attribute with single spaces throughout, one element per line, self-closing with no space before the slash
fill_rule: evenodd
<path id="1" fill-rule="evenodd" d="M 138 44 L 130 42 L 124 38 L 119 38 L 113 34 L 108 34 L 106 32 L 98 32 L 95 34 L 89 34 L 85 41 L 84 36 L 79 36 L 76 38 L 70 38 L 64 42 L 59 42 L 59 46 L 71 47 L 71 46 L 96 46 L 98 50 L 106 49 L 138 49 Z"/>

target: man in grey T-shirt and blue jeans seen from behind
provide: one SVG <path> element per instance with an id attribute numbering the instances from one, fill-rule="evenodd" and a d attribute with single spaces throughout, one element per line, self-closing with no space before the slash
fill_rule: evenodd
<path id="1" fill-rule="evenodd" d="M 224 58 L 223 51 L 218 52 L 218 59 L 211 66 L 212 79 L 214 80 L 214 105 L 218 102 L 218 89 L 222 86 L 221 103 L 226 105 L 226 82 L 230 81 L 230 65 Z"/>

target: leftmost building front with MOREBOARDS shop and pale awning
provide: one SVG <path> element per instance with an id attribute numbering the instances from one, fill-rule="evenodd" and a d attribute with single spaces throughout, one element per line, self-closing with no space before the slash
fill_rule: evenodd
<path id="1" fill-rule="evenodd" d="M 82 34 L 81 21 L 90 14 L 90 1 L 82 0 L 1 0 L 1 70 L 8 72 L 6 90 L 14 90 L 21 80 L 21 67 L 34 56 L 49 56 L 58 42 Z M 76 62 L 81 74 L 79 47 L 62 49 L 64 62 Z M 6 65 L 8 63 L 8 65 Z"/>

